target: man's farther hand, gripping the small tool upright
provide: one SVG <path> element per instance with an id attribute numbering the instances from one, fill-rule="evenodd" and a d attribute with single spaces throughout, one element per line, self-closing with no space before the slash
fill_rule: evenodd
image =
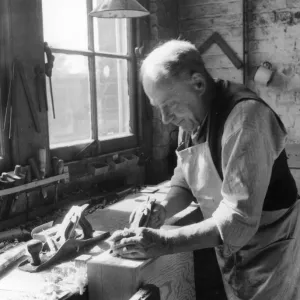
<path id="1" fill-rule="evenodd" d="M 144 208 L 145 208 L 146 204 L 141 204 L 139 205 L 130 215 L 129 217 L 129 224 L 131 227 L 137 228 L 139 226 L 136 226 L 135 223 L 139 223 L 139 219 L 140 217 L 143 215 L 144 213 Z M 165 220 L 166 220 L 166 209 L 164 208 L 164 206 L 162 206 L 160 203 L 154 203 L 154 208 L 151 212 L 151 215 L 149 216 L 149 221 L 147 224 L 147 227 L 150 228 L 160 228 Z M 148 211 L 148 213 L 150 213 L 150 211 Z"/>

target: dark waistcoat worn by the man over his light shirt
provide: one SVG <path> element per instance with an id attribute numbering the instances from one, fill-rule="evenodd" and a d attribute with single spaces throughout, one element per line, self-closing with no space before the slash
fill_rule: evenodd
<path id="1" fill-rule="evenodd" d="M 235 105 L 249 100 L 258 101 L 269 107 L 265 101 L 243 85 L 224 81 L 217 82 L 217 96 L 208 115 L 205 131 L 213 162 L 222 180 L 221 140 L 225 122 Z M 279 124 L 284 127 L 279 116 L 273 110 L 272 112 Z M 189 134 L 184 133 L 182 138 L 186 145 L 191 143 Z M 296 183 L 288 167 L 286 152 L 283 150 L 274 162 L 263 210 L 273 211 L 288 208 L 295 203 L 297 194 Z"/>

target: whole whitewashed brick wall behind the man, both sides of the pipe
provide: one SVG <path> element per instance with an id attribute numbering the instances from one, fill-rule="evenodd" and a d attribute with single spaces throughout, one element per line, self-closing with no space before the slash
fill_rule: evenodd
<path id="1" fill-rule="evenodd" d="M 179 28 L 184 38 L 201 45 L 214 31 L 243 58 L 243 1 L 185 0 L 179 3 Z M 300 188 L 300 93 L 284 86 L 255 84 L 254 71 L 264 61 L 272 63 L 277 74 L 300 75 L 300 1 L 248 0 L 248 86 L 280 115 L 288 130 L 287 152 L 290 167 Z M 214 45 L 204 55 L 213 77 L 243 81 L 237 70 Z"/>

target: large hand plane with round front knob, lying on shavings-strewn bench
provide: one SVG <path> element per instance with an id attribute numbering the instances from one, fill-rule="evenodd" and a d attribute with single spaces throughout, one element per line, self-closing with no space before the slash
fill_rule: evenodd
<path id="1" fill-rule="evenodd" d="M 26 272 L 40 272 L 55 264 L 70 260 L 82 254 L 87 248 L 109 237 L 109 232 L 94 231 L 84 217 L 88 204 L 73 206 L 63 222 L 38 226 L 31 232 L 33 240 L 28 242 L 28 256 L 19 269 Z M 78 228 L 78 225 L 81 229 Z"/>

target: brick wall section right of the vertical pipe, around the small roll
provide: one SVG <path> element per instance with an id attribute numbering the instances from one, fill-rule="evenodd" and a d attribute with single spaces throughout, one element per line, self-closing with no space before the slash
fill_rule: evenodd
<path id="1" fill-rule="evenodd" d="M 278 72 L 300 74 L 300 1 L 249 1 L 249 65 L 269 61 Z M 249 82 L 281 116 L 290 143 L 300 143 L 300 94 Z"/>

